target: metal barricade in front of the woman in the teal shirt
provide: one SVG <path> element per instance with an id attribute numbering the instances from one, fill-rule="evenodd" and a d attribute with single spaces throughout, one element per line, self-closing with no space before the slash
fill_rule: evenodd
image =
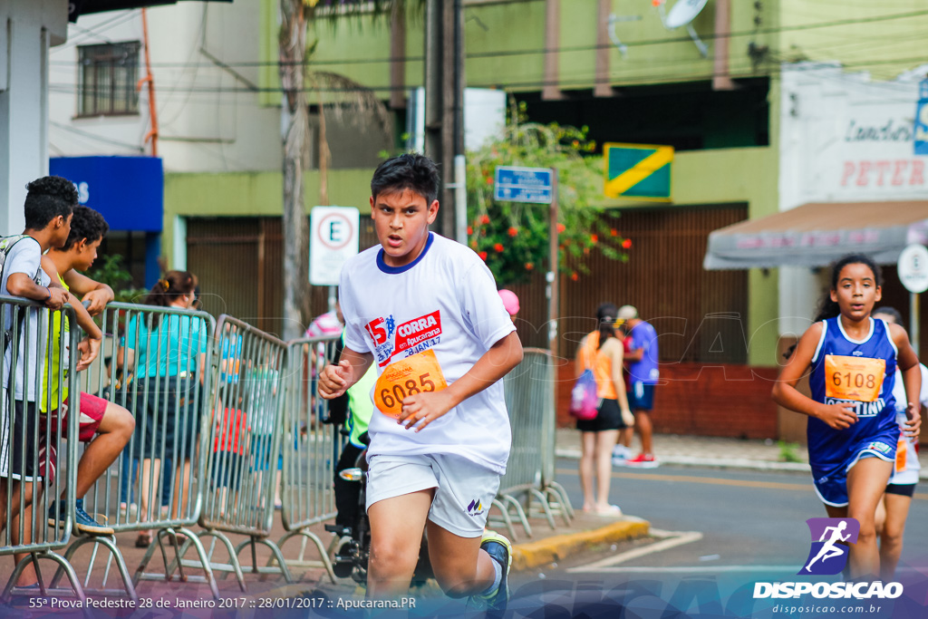
<path id="1" fill-rule="evenodd" d="M 135 570 L 140 580 L 172 580 L 177 572 L 187 579 L 182 561 L 189 547 L 196 549 L 213 596 L 218 588 L 206 551 L 189 527 L 200 520 L 204 429 L 210 399 L 213 356 L 213 316 L 174 307 L 110 303 L 98 317 L 105 334 L 100 354 L 82 374 L 81 388 L 126 408 L 135 417 L 135 431 L 119 458 L 84 496 L 89 513 L 102 514 L 117 532 L 151 532 L 148 551 Z M 182 542 L 184 535 L 189 540 Z M 144 537 L 143 537 L 144 539 Z M 141 541 L 141 540 L 140 540 Z M 69 556 L 84 544 L 100 544 L 100 537 L 84 537 Z M 169 560 L 167 543 L 174 549 Z M 115 547 L 114 547 L 115 548 Z M 164 574 L 145 569 L 155 550 L 161 551 Z M 97 560 L 97 546 L 88 574 Z M 104 587 L 112 561 L 127 574 L 122 556 L 110 551 Z M 135 597 L 134 589 L 127 588 Z M 111 593 L 102 589 L 102 593 Z"/>

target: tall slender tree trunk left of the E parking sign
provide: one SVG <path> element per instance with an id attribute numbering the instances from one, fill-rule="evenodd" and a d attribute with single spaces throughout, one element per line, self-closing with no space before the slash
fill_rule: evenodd
<path id="1" fill-rule="evenodd" d="M 281 112 L 286 122 L 283 160 L 284 322 L 282 337 L 303 336 L 309 288 L 309 230 L 303 206 L 303 154 L 309 110 L 304 92 L 306 16 L 302 0 L 280 0 Z"/>

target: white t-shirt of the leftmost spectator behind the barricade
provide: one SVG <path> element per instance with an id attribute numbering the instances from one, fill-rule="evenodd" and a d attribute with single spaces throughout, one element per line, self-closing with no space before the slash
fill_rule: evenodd
<path id="1" fill-rule="evenodd" d="M 42 264 L 42 247 L 39 245 L 39 241 L 27 238 L 19 240 L 16 244 L 13 245 L 12 249 L 6 255 L 6 263 L 3 268 L 3 279 L 0 281 L 0 294 L 9 294 L 9 291 L 6 290 L 6 281 L 14 273 L 22 273 L 27 277 L 32 279 L 35 277 L 36 271 L 39 273 L 40 286 L 47 286 L 51 283 L 51 278 L 48 277 L 48 274 L 40 268 Z M 6 316 L 4 318 L 4 330 L 12 328 L 13 323 L 13 313 L 11 307 L 7 308 Z M 38 316 L 42 316 L 42 329 L 40 333 Z M 21 314 L 20 314 L 21 316 Z M 22 333 L 19 339 L 19 359 L 17 361 L 17 373 L 15 380 L 15 390 L 14 395 L 16 399 L 23 399 L 23 389 L 22 385 L 25 383 L 27 385 L 26 397 L 25 399 L 29 402 L 35 401 L 35 369 L 43 369 L 43 377 L 40 380 L 44 380 L 45 374 L 45 363 L 40 363 L 38 359 L 38 341 L 40 334 L 44 334 L 47 337 L 48 333 L 48 312 L 45 310 L 26 310 L 26 316 L 29 323 L 28 331 L 30 333 L 29 342 L 24 342 L 23 336 L 27 330 L 26 321 L 23 321 L 22 324 Z M 29 360 L 30 368 L 28 372 L 28 378 L 23 379 L 23 366 L 25 364 L 25 352 L 26 346 L 29 347 Z M 43 346 L 43 359 L 45 360 L 45 347 Z M 8 347 L 4 352 L 4 376 L 3 376 L 3 385 L 6 389 L 9 386 L 9 366 L 10 359 L 12 355 L 12 346 Z"/>

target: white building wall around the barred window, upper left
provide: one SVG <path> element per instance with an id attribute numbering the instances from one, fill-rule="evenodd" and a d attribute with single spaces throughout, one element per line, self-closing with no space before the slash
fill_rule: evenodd
<path id="1" fill-rule="evenodd" d="M 258 83 L 259 3 L 179 3 L 148 9 L 149 53 L 155 80 L 165 172 L 239 172 L 281 167 L 280 110 L 261 108 Z M 54 50 L 51 66 L 50 150 L 53 156 L 150 154 L 148 88 L 137 116 L 74 118 L 78 45 L 142 41 L 141 11 L 84 16 Z M 230 65 L 217 66 L 213 60 Z M 251 66 L 238 66 L 240 63 Z M 139 77 L 144 76 L 139 55 Z"/>

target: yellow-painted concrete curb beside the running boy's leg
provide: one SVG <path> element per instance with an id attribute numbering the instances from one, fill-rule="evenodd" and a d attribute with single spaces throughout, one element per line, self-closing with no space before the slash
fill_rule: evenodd
<path id="1" fill-rule="evenodd" d="M 555 561 L 598 547 L 609 547 L 615 542 L 643 537 L 651 530 L 651 523 L 643 520 L 612 522 L 599 529 L 554 535 L 536 542 L 516 544 L 512 547 L 512 572 L 534 570 Z"/>

